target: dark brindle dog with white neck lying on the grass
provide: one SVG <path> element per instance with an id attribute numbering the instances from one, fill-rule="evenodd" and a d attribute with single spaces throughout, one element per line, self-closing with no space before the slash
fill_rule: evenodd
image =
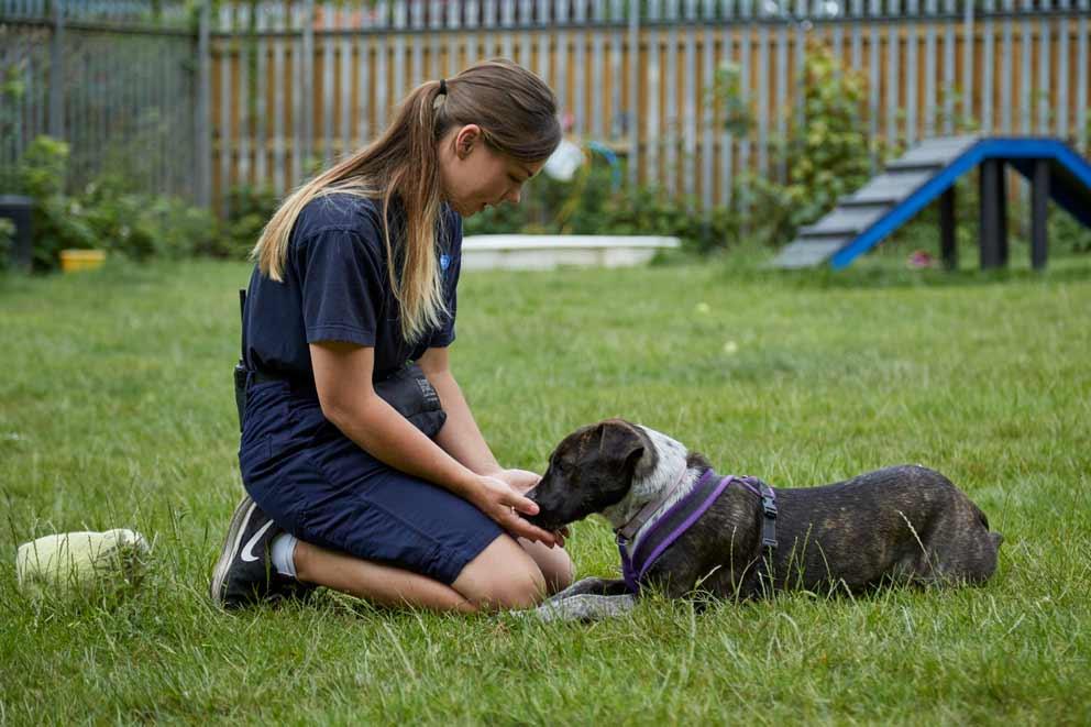
<path id="1" fill-rule="evenodd" d="M 978 506 L 933 470 L 888 467 L 772 493 L 761 481 L 710 470 L 701 454 L 620 419 L 566 437 L 528 493 L 540 508 L 530 521 L 556 530 L 598 513 L 624 536 L 622 560 L 643 559 L 627 569 L 628 583 L 585 579 L 539 614 L 615 615 L 649 586 L 669 597 L 706 592 L 745 599 L 770 590 L 981 583 L 996 568 L 1002 536 L 990 532 Z"/>

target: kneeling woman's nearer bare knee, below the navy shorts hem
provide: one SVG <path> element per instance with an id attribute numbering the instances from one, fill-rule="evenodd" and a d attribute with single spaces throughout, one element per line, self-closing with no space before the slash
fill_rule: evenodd
<path id="1" fill-rule="evenodd" d="M 451 584 L 478 608 L 529 608 L 546 596 L 535 560 L 509 536 L 500 536 L 470 561 Z"/>

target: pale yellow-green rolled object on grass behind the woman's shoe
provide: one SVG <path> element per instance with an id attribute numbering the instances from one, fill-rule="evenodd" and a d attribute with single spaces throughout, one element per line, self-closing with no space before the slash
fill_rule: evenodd
<path id="1" fill-rule="evenodd" d="M 19 547 L 15 577 L 33 596 L 110 595 L 140 584 L 150 552 L 135 530 L 59 532 Z"/>

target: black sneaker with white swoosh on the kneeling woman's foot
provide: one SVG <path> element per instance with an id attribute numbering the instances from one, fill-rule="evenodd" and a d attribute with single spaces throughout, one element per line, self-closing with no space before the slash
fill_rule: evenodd
<path id="1" fill-rule="evenodd" d="M 301 598 L 313 586 L 282 575 L 273 569 L 273 539 L 284 532 L 250 495 L 242 498 L 212 571 L 209 595 L 223 608 L 242 608 L 284 598 Z"/>

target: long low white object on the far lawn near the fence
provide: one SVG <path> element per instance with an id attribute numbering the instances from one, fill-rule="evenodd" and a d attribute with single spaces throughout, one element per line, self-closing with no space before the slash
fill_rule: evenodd
<path id="1" fill-rule="evenodd" d="M 681 244 L 677 238 L 660 235 L 474 234 L 462 241 L 462 269 L 627 267 L 643 265 L 657 251 Z"/>

